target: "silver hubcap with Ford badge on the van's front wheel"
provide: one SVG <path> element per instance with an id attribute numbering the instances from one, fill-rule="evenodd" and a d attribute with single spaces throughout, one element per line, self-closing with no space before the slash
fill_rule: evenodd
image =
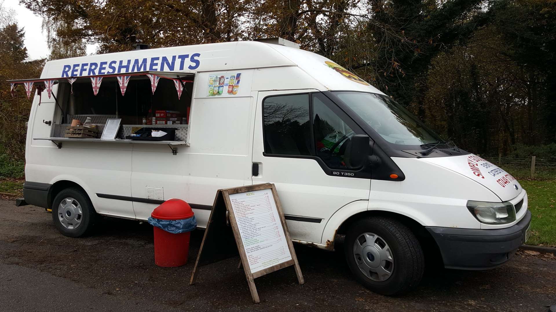
<path id="1" fill-rule="evenodd" d="M 390 246 L 379 235 L 359 235 L 353 245 L 353 255 L 361 272 L 372 280 L 385 281 L 394 271 L 394 256 Z"/>

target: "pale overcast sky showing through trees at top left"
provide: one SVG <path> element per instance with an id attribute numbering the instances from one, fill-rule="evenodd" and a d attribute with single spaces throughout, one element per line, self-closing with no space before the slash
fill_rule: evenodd
<path id="1" fill-rule="evenodd" d="M 46 33 L 42 32 L 42 17 L 34 16 L 26 7 L 19 4 L 19 0 L 4 0 L 4 7 L 16 10 L 17 24 L 25 29 L 25 47 L 31 59 L 47 57 L 49 54 L 46 44 Z M 96 46 L 87 45 L 87 54 L 94 54 Z"/>

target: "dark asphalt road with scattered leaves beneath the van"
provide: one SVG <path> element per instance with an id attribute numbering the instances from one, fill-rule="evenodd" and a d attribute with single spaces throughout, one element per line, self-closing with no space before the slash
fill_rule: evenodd
<path id="1" fill-rule="evenodd" d="M 295 245 L 305 284 L 292 267 L 255 280 L 252 304 L 239 258 L 203 266 L 154 264 L 147 223 L 106 218 L 88 238 L 58 233 L 51 214 L 0 200 L 0 311 L 547 311 L 556 304 L 556 259 L 519 252 L 489 271 L 434 269 L 413 292 L 386 297 L 351 279 L 342 253 Z"/>

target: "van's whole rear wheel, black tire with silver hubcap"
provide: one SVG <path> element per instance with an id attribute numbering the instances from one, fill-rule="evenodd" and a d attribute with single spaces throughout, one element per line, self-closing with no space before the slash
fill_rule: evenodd
<path id="1" fill-rule="evenodd" d="M 80 237 L 90 234 L 97 218 L 91 199 L 82 189 L 64 189 L 52 203 L 52 221 L 63 235 Z"/>

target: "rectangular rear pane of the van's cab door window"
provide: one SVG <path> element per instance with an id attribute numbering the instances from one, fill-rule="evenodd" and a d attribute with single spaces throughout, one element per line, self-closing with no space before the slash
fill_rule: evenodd
<path id="1" fill-rule="evenodd" d="M 265 153 L 311 155 L 309 94 L 267 97 L 263 109 Z"/>

